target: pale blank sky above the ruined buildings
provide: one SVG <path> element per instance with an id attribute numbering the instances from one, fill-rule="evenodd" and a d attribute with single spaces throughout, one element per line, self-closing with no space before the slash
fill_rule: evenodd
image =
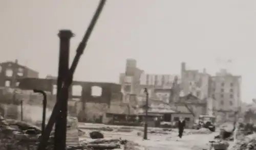
<path id="1" fill-rule="evenodd" d="M 180 63 L 215 74 L 217 59 L 242 76 L 242 98 L 256 97 L 256 1 L 109 0 L 83 54 L 76 80 L 118 82 L 125 59 L 148 73 L 179 73 Z M 1 61 L 18 59 L 57 74 L 59 29 L 71 29 L 71 58 L 97 7 L 96 0 L 1 0 Z M 223 64 L 224 65 L 224 64 Z"/>

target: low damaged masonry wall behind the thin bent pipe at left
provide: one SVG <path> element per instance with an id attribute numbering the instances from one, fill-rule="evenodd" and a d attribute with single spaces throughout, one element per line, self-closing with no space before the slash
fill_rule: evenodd
<path id="1" fill-rule="evenodd" d="M 48 106 L 47 117 L 55 103 L 55 97 L 47 92 Z M 32 90 L 20 90 L 14 88 L 0 88 L 0 110 L 5 118 L 20 119 L 20 103 L 23 101 L 23 119 L 26 121 L 38 121 L 42 116 L 42 95 Z"/>

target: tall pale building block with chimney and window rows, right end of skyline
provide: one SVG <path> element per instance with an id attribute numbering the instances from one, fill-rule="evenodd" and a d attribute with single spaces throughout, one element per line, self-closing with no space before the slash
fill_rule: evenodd
<path id="1" fill-rule="evenodd" d="M 232 76 L 225 69 L 210 76 L 199 70 L 187 70 L 181 65 L 182 89 L 184 94 L 192 93 L 200 99 L 212 99 L 212 110 L 233 111 L 241 104 L 241 76 Z"/>

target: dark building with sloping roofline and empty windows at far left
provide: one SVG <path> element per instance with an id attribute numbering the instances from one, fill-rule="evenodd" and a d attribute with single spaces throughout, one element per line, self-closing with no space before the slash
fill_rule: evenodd
<path id="1" fill-rule="evenodd" d="M 0 63 L 0 86 L 15 88 L 19 85 L 18 79 L 38 78 L 38 76 L 37 71 L 18 64 L 17 60 Z"/>

